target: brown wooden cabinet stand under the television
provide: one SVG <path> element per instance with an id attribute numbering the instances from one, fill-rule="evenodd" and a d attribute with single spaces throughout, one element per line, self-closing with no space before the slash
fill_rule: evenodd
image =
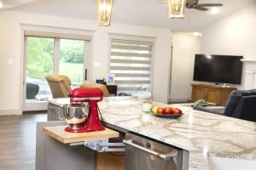
<path id="1" fill-rule="evenodd" d="M 226 105 L 230 93 L 237 88 L 223 88 L 219 86 L 204 85 L 204 84 L 191 84 L 192 102 L 198 99 L 204 99 L 206 102 L 214 103 L 217 105 Z"/>

